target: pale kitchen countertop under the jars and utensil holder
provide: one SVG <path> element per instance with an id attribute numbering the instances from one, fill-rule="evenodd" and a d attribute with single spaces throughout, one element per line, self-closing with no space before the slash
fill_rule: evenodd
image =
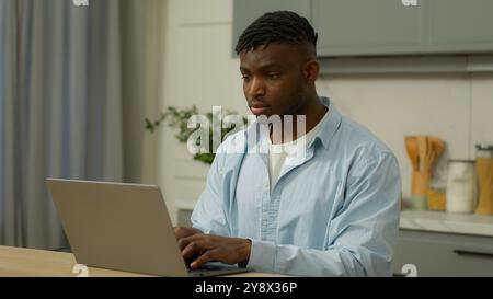
<path id="1" fill-rule="evenodd" d="M 493 216 L 428 210 L 401 211 L 400 228 L 493 237 Z"/>

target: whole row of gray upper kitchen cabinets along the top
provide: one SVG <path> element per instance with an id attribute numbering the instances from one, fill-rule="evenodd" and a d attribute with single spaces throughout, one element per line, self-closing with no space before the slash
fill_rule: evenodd
<path id="1" fill-rule="evenodd" d="M 233 47 L 252 21 L 275 10 L 311 22 L 320 57 L 493 53 L 491 0 L 234 0 Z"/>

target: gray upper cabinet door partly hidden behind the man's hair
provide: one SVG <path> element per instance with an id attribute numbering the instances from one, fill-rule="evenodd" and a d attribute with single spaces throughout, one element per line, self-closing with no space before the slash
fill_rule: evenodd
<path id="1" fill-rule="evenodd" d="M 241 33 L 262 14 L 277 10 L 294 11 L 310 20 L 311 0 L 234 0 L 232 50 Z M 236 56 L 236 54 L 233 54 Z"/>

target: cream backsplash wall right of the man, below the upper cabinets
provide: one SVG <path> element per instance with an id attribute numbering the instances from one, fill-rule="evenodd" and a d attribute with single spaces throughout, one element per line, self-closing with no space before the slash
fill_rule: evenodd
<path id="1" fill-rule="evenodd" d="M 446 152 L 436 177 L 446 180 L 448 159 L 473 159 L 474 145 L 493 142 L 493 74 L 401 74 L 322 78 L 320 94 L 367 126 L 399 159 L 403 194 L 411 189 L 411 163 L 403 136 L 435 135 Z"/>

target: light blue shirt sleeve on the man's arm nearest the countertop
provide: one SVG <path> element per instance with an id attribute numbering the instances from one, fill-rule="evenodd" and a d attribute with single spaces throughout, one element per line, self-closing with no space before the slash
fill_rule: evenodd
<path id="1" fill-rule="evenodd" d="M 248 267 L 299 276 L 389 276 L 399 231 L 399 165 L 390 152 L 369 158 L 348 171 L 326 250 L 252 240 Z"/>

